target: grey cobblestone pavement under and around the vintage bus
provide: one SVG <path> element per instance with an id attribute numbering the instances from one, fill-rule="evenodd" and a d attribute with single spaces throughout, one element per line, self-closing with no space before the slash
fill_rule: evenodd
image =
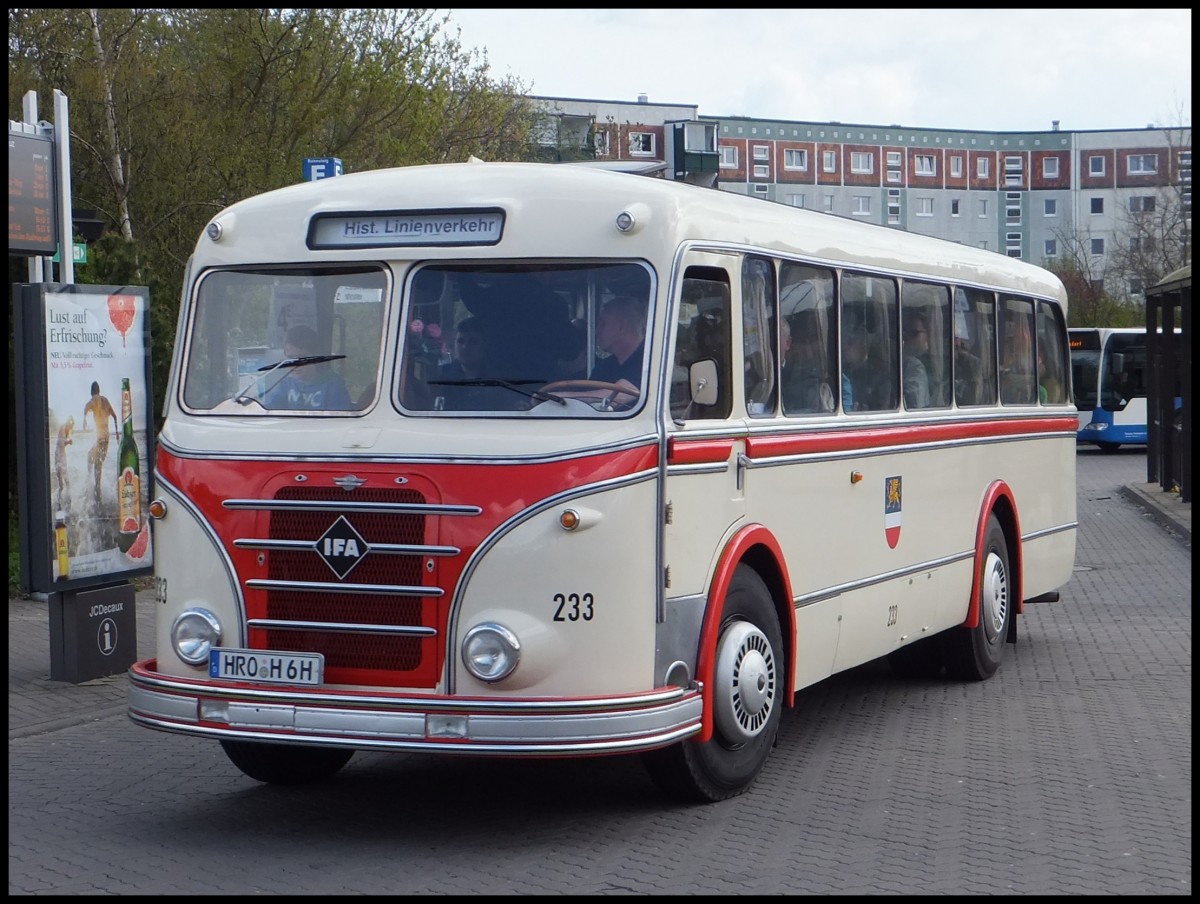
<path id="1" fill-rule="evenodd" d="M 50 681 L 47 603 L 10 599 L 8 892 L 1190 894 L 1190 504 L 1144 475 L 1079 453 L 1075 576 L 995 678 L 808 688 L 755 786 L 707 807 L 632 758 L 359 753 L 259 785 L 133 725 L 124 675 Z"/>

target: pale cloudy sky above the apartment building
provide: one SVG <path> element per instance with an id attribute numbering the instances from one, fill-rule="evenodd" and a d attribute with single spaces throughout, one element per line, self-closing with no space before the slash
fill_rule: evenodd
<path id="1" fill-rule="evenodd" d="M 1192 11 L 442 10 L 524 94 L 980 131 L 1192 125 Z"/>

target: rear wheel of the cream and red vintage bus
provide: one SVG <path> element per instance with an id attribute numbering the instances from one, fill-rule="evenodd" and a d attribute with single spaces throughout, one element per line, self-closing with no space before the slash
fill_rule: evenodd
<path id="1" fill-rule="evenodd" d="M 979 623 L 974 628 L 952 628 L 943 637 L 946 672 L 960 681 L 984 681 L 996 673 L 1008 640 L 1013 615 L 1013 574 L 1008 541 L 1000 519 L 988 516 L 979 573 Z"/>

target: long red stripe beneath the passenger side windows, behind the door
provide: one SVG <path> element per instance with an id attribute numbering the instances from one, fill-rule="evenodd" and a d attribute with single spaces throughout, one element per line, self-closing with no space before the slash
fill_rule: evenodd
<path id="1" fill-rule="evenodd" d="M 1078 420 L 1074 415 L 1019 420 L 972 420 L 947 424 L 904 424 L 886 427 L 847 427 L 786 436 L 750 436 L 746 437 L 745 447 L 748 457 L 769 459 L 780 455 L 886 449 L 908 443 L 1002 438 L 1026 433 L 1074 433 L 1076 430 Z"/>

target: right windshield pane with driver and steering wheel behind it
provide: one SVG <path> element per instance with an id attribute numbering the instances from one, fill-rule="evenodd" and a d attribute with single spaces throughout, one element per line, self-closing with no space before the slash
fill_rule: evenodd
<path id="1" fill-rule="evenodd" d="M 404 312 L 400 405 L 421 414 L 632 411 L 650 285 L 635 263 L 422 267 Z"/>

